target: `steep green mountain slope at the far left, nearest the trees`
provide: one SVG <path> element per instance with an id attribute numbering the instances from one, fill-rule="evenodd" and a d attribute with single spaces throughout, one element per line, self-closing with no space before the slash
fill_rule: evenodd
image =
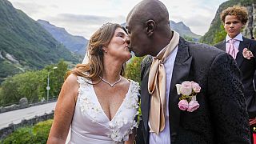
<path id="1" fill-rule="evenodd" d="M 81 62 L 42 26 L 7 0 L 0 0 L 0 82 L 26 70 L 38 70 L 59 59 Z"/>

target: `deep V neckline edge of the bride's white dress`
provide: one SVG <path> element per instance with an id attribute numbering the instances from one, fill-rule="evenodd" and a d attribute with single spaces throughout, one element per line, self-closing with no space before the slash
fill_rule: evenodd
<path id="1" fill-rule="evenodd" d="M 127 95 L 130 93 L 130 87 L 131 87 L 131 85 L 132 85 L 132 82 L 130 81 L 130 85 L 129 85 L 128 91 L 127 91 L 127 93 L 126 93 L 126 96 L 125 96 L 125 98 L 123 98 L 121 105 L 118 107 L 118 110 L 116 111 L 116 113 L 114 114 L 114 117 L 113 117 L 111 120 L 110 120 L 110 118 L 108 118 L 108 116 L 106 115 L 105 111 L 103 110 L 102 105 L 101 105 L 101 103 L 99 102 L 98 97 L 97 97 L 97 94 L 96 94 L 96 92 L 95 92 L 95 90 L 94 90 L 94 86 L 91 85 L 91 89 L 92 89 L 93 92 L 94 92 L 94 98 L 96 99 L 97 105 L 100 107 L 100 109 L 101 109 L 101 111 L 102 111 L 102 114 L 104 115 L 104 117 L 107 119 L 108 122 L 112 122 L 112 121 L 114 120 L 114 118 L 116 118 L 116 116 L 118 115 L 119 111 L 122 109 L 122 106 L 124 105 L 124 103 L 125 103 L 125 101 L 126 101 Z"/>

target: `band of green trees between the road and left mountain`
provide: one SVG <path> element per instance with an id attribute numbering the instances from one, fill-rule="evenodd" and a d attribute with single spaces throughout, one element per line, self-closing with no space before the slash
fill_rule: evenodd
<path id="1" fill-rule="evenodd" d="M 58 69 L 53 70 L 54 66 Z M 50 98 L 58 96 L 67 70 L 66 62 L 61 60 L 57 65 L 46 66 L 43 70 L 27 71 L 6 78 L 0 89 L 0 104 L 6 106 L 18 103 L 20 98 L 27 98 L 30 103 L 46 99 L 48 73 L 50 74 L 49 96 Z"/>

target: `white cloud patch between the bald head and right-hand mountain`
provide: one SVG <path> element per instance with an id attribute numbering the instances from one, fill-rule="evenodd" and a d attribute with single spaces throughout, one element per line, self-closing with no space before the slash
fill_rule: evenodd
<path id="1" fill-rule="evenodd" d="M 181 6 L 178 1 L 175 1 L 174 4 L 169 7 L 170 20 L 174 22 L 184 22 L 195 34 L 205 34 L 210 28 L 210 22 L 214 19 L 218 5 L 221 3 L 205 1 L 206 0 L 198 0 L 191 2 L 191 0 L 184 0 L 185 5 L 183 6 Z M 168 6 L 168 4 L 166 4 L 166 6 Z"/>

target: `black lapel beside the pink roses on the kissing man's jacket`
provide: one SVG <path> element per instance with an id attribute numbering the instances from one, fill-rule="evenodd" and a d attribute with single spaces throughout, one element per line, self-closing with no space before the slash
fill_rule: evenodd
<path id="1" fill-rule="evenodd" d="M 178 132 L 181 111 L 178 108 L 179 96 L 175 85 L 189 80 L 191 62 L 192 57 L 189 55 L 188 43 L 183 38 L 180 38 L 169 94 L 170 135 L 172 142 L 175 140 Z"/>

